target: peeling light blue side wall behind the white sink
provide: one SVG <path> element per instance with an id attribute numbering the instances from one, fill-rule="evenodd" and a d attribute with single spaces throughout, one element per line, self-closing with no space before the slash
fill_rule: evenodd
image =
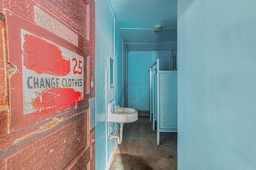
<path id="1" fill-rule="evenodd" d="M 120 63 L 119 57 L 122 59 L 122 41 L 120 42 L 120 38 L 115 39 L 116 44 L 118 44 L 115 51 L 114 16 L 107 0 L 95 0 L 95 5 L 95 158 L 96 170 L 105 170 L 110 163 L 111 154 L 116 145 L 115 139 L 110 139 L 110 133 L 114 133 L 115 125 L 106 121 L 106 108 L 107 103 L 115 98 L 116 92 L 119 93 L 116 80 L 118 80 L 119 76 L 122 80 L 122 74 L 119 75 L 120 71 L 118 71 L 122 70 L 118 64 Z M 115 65 L 114 88 L 110 88 L 109 57 L 114 60 Z M 117 94 L 117 96 L 119 95 Z M 114 127 L 112 130 L 110 130 L 111 126 Z"/>

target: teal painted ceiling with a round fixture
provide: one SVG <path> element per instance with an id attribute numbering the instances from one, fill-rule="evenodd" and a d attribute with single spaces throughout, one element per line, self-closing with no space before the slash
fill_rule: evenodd
<path id="1" fill-rule="evenodd" d="M 109 0 L 128 51 L 177 47 L 177 0 Z M 154 26 L 161 25 L 161 32 Z"/>

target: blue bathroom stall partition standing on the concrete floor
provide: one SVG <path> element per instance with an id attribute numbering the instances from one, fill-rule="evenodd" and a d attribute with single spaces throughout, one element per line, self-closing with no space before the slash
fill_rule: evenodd
<path id="1" fill-rule="evenodd" d="M 159 70 L 159 59 L 149 69 L 150 72 L 150 120 L 157 133 L 177 132 L 177 71 Z"/>

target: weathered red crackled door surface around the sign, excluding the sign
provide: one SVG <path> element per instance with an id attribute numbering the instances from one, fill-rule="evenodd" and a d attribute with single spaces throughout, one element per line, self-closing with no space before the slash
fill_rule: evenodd
<path id="1" fill-rule="evenodd" d="M 95 94 L 94 0 L 0 4 L 0 169 L 94 170 L 95 128 L 89 127 L 89 99 Z M 45 114 L 24 114 L 20 30 L 84 58 L 82 99 Z"/>

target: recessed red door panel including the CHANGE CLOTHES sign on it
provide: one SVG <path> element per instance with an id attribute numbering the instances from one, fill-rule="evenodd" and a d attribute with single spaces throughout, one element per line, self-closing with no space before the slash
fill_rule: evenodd
<path id="1" fill-rule="evenodd" d="M 85 106 L 86 52 L 8 11 L 6 25 L 10 133 Z"/>

